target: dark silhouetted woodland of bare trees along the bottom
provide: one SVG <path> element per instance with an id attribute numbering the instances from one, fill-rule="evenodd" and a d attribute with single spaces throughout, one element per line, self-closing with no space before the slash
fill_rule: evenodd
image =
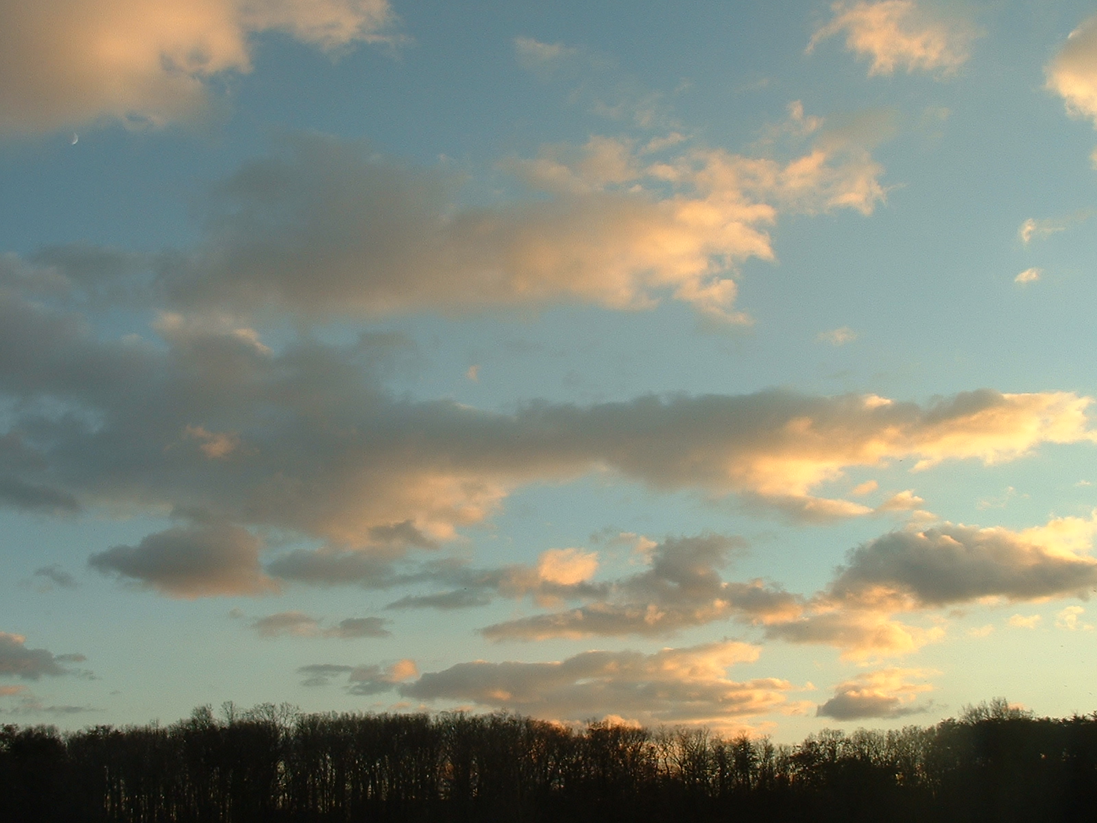
<path id="1" fill-rule="evenodd" d="M 302 714 L 0 731 L 0 821 L 1087 821 L 1097 713 L 995 700 L 798 745 L 512 714 Z"/>

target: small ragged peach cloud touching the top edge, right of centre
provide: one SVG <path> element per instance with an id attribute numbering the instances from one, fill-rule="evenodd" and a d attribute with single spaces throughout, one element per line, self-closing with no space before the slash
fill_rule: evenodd
<path id="1" fill-rule="evenodd" d="M 846 48 L 872 60 L 869 76 L 891 75 L 896 68 L 953 74 L 969 57 L 973 27 L 961 20 L 935 19 L 914 0 L 836 2 L 834 19 L 807 44 L 811 53 L 828 37 L 845 33 Z"/>

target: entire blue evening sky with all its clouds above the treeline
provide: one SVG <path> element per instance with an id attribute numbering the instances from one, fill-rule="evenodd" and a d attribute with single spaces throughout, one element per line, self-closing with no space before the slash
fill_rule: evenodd
<path id="1" fill-rule="evenodd" d="M 0 0 L 0 721 L 1097 710 L 1092 3 Z"/>

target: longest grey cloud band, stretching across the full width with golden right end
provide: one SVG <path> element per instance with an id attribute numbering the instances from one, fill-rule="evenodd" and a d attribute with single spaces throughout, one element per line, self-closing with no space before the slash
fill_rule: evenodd
<path id="1" fill-rule="evenodd" d="M 117 339 L 90 309 L 0 289 L 8 471 L 80 505 L 192 520 L 93 563 L 176 596 L 270 588 L 245 527 L 323 544 L 269 574 L 384 587 L 391 562 L 483 522 L 530 483 L 603 473 L 826 520 L 873 511 L 817 496 L 848 470 L 995 464 L 1094 439 L 1092 401 L 1063 392 L 981 390 L 919 406 L 766 391 L 499 413 L 384 391 L 407 351 L 393 336 L 272 350 L 231 317 L 161 317 L 148 340 Z M 199 427 L 231 432 L 233 448 L 211 456 Z"/>

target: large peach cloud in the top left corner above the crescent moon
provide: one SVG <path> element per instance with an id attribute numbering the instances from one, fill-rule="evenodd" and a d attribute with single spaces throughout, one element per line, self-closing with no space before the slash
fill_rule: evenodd
<path id="1" fill-rule="evenodd" d="M 2 0 L 0 133 L 192 119 L 212 78 L 251 69 L 255 33 L 333 52 L 392 20 L 386 0 Z"/>

